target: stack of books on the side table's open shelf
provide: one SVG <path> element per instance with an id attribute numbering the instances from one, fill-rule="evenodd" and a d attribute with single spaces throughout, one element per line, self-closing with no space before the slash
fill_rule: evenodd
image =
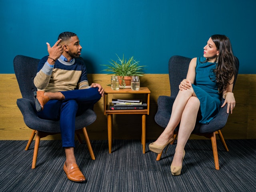
<path id="1" fill-rule="evenodd" d="M 147 109 L 147 103 L 140 99 L 112 99 L 109 110 L 142 110 Z"/>

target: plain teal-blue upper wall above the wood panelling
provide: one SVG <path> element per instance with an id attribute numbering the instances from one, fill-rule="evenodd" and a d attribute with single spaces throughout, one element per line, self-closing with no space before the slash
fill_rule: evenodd
<path id="1" fill-rule="evenodd" d="M 212 34 L 230 38 L 239 73 L 256 73 L 255 8 L 255 0 L 1 0 L 0 73 L 14 73 L 15 55 L 47 55 L 46 42 L 63 31 L 78 35 L 88 73 L 105 73 L 116 53 L 168 73 L 170 56 L 202 56 Z"/>

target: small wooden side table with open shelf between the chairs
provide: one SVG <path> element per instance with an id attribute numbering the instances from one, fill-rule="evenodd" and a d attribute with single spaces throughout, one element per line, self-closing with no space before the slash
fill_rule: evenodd
<path id="1" fill-rule="evenodd" d="M 128 94 L 145 94 L 146 95 L 146 103 L 147 109 L 142 110 L 109 110 L 109 102 L 108 95 L 109 94 L 119 94 L 119 93 L 128 93 Z M 117 99 L 117 98 L 115 98 Z M 140 90 L 133 91 L 132 89 L 119 89 L 112 90 L 111 87 L 104 88 L 104 115 L 108 115 L 108 151 L 111 153 L 112 148 L 112 121 L 114 114 L 142 114 L 142 150 L 145 153 L 146 146 L 146 115 L 149 115 L 149 107 L 150 107 L 150 90 L 148 87 L 140 87 Z"/>

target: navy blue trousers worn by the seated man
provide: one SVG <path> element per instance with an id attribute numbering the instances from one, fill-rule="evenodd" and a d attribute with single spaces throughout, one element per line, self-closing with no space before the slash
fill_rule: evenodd
<path id="1" fill-rule="evenodd" d="M 64 95 L 64 100 L 48 101 L 44 110 L 37 114 L 41 119 L 60 120 L 62 147 L 74 147 L 76 116 L 92 108 L 100 100 L 101 94 L 98 87 L 60 92 Z"/>

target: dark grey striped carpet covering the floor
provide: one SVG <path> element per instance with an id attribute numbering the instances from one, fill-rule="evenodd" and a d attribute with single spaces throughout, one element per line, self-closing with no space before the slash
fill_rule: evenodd
<path id="1" fill-rule="evenodd" d="M 78 165 L 85 183 L 71 182 L 63 171 L 61 141 L 41 141 L 37 166 L 31 169 L 33 147 L 27 141 L 0 141 L 1 192 L 253 192 L 256 191 L 256 140 L 226 140 L 229 152 L 217 141 L 220 170 L 215 170 L 210 140 L 189 140 L 182 174 L 172 176 L 175 144 L 160 161 L 142 153 L 138 140 L 92 141 L 96 160 L 85 144 L 76 142 Z"/>

